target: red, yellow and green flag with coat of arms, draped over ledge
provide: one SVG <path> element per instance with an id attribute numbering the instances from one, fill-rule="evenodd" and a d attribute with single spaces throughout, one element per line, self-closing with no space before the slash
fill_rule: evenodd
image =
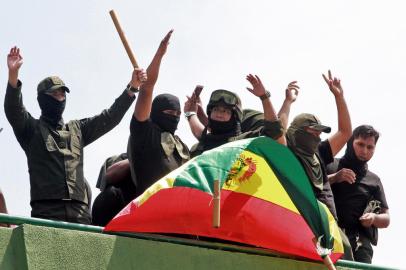
<path id="1" fill-rule="evenodd" d="M 222 187 L 219 228 L 212 227 L 216 179 Z M 331 254 L 333 262 L 343 254 L 337 224 L 316 200 L 301 164 L 267 137 L 231 142 L 190 160 L 128 204 L 105 231 L 206 236 L 314 260 Z"/>

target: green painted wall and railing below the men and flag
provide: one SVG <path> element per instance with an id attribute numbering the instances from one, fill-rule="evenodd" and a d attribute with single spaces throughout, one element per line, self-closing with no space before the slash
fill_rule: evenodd
<path id="1" fill-rule="evenodd" d="M 0 269 L 325 269 L 269 250 L 0 214 Z M 34 225 L 34 226 L 33 226 Z M 337 269 L 393 269 L 339 260 Z"/>

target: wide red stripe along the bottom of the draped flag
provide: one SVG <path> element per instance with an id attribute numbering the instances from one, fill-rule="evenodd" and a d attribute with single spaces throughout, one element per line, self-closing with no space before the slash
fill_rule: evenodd
<path id="1" fill-rule="evenodd" d="M 279 205 L 221 191 L 221 225 L 212 227 L 212 197 L 187 187 L 162 189 L 140 207 L 131 202 L 105 231 L 179 233 L 219 238 L 321 260 L 302 216 Z M 332 254 L 335 262 L 341 253 Z"/>

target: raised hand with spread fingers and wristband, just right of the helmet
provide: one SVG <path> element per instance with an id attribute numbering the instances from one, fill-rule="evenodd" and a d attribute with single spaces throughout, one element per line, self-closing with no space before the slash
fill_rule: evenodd
<path id="1" fill-rule="evenodd" d="M 279 119 L 272 105 L 270 92 L 265 90 L 261 79 L 257 75 L 248 74 L 246 79 L 252 85 L 252 88 L 247 87 L 247 90 L 261 99 L 262 107 L 264 110 L 264 120 L 276 123 Z M 276 138 L 276 140 L 279 143 L 286 145 L 286 138 L 284 135 Z"/>

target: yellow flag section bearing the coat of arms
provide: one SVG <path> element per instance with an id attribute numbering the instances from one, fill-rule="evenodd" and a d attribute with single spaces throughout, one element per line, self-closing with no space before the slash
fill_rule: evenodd
<path id="1" fill-rule="evenodd" d="M 234 162 L 222 189 L 254 196 L 299 214 L 265 159 L 249 151 L 243 151 Z"/>

